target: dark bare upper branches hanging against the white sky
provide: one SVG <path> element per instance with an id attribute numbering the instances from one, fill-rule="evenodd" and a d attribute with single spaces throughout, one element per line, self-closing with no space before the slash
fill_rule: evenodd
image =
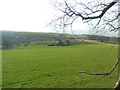
<path id="1" fill-rule="evenodd" d="M 71 27 L 75 21 L 74 19 L 81 17 L 84 23 L 88 24 L 93 23 L 92 21 L 95 19 L 99 19 L 96 24 L 94 22 L 95 25 L 93 26 L 93 29 L 97 28 L 98 31 L 104 32 L 106 29 L 109 31 L 118 31 L 119 27 L 115 25 L 115 23 L 119 22 L 118 18 L 120 16 L 119 11 L 117 11 L 118 5 L 116 4 L 118 1 L 113 0 L 112 2 L 108 1 L 105 3 L 97 0 L 94 4 L 93 2 L 84 4 L 77 2 L 77 0 L 73 0 L 74 4 L 68 3 L 66 0 L 63 2 L 57 1 L 54 6 L 61 13 L 58 14 L 57 19 L 52 21 L 51 25 L 55 28 L 60 27 L 60 29 L 63 29 L 64 26 Z"/>

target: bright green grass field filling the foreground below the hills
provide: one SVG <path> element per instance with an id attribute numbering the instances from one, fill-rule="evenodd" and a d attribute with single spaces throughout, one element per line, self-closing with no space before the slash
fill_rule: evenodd
<path id="1" fill-rule="evenodd" d="M 3 50 L 3 88 L 112 88 L 118 70 L 109 76 L 91 76 L 79 71 L 106 73 L 118 57 L 117 45 L 74 41 L 71 46 L 29 46 Z"/>

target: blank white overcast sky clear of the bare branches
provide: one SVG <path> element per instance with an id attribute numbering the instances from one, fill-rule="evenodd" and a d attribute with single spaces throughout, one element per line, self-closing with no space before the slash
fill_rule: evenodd
<path id="1" fill-rule="evenodd" d="M 0 0 L 0 30 L 56 32 L 46 27 L 54 17 L 50 0 Z M 80 34 L 89 33 L 88 27 L 79 22 Z"/>

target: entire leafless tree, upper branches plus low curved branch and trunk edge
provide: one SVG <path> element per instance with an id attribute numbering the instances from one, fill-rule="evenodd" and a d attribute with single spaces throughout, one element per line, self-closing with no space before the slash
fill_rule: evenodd
<path id="1" fill-rule="evenodd" d="M 97 29 L 96 32 L 120 30 L 119 19 L 120 11 L 118 9 L 119 0 L 54 0 L 56 8 L 56 19 L 51 21 L 51 25 L 60 28 L 65 32 L 66 27 L 70 27 L 76 20 L 82 20 Z M 106 31 L 104 31 L 106 30 Z M 81 72 L 90 75 L 109 75 L 118 65 L 117 60 L 110 72 L 105 74 L 94 74 Z M 120 76 L 115 88 L 120 88 Z"/>

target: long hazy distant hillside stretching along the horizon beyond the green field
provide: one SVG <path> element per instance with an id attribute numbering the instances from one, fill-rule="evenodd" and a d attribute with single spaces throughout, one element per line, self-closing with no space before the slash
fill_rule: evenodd
<path id="1" fill-rule="evenodd" d="M 50 40 L 73 40 L 73 39 L 85 39 L 95 40 L 105 43 L 117 43 L 118 38 L 96 36 L 96 35 L 72 35 L 72 34 L 60 34 L 60 33 L 38 33 L 38 32 L 15 32 L 15 31 L 1 31 L 2 33 L 2 46 L 13 46 L 19 44 L 25 44 L 32 41 L 50 41 Z"/>

